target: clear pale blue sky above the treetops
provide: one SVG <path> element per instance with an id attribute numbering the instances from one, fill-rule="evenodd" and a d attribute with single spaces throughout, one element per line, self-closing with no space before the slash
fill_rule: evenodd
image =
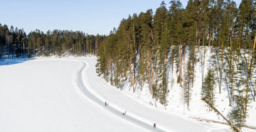
<path id="1" fill-rule="evenodd" d="M 240 4 L 241 0 L 234 0 Z M 80 30 L 108 34 L 129 14 L 155 12 L 162 0 L 1 0 L 0 23 L 31 30 Z M 165 1 L 169 7 L 169 1 Z M 183 7 L 188 0 L 181 0 Z"/>

